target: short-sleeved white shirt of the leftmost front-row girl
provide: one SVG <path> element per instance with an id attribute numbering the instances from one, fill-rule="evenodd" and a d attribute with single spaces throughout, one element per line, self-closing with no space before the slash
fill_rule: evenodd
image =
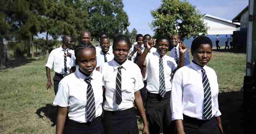
<path id="1" fill-rule="evenodd" d="M 96 116 L 102 113 L 103 90 L 102 74 L 94 70 L 89 76 L 92 78 L 91 85 L 95 100 Z M 53 105 L 68 107 L 68 118 L 80 123 L 87 122 L 87 98 L 86 91 L 88 84 L 84 81 L 87 78 L 79 70 L 64 77 L 59 84 L 58 92 L 53 101 Z"/>

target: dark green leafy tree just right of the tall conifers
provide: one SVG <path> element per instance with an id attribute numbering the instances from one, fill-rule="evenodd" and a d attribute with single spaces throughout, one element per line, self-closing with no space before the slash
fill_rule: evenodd
<path id="1" fill-rule="evenodd" d="M 122 0 L 87 0 L 89 13 L 89 31 L 98 37 L 103 32 L 112 37 L 123 33 L 130 25 L 128 15 L 123 10 Z"/>

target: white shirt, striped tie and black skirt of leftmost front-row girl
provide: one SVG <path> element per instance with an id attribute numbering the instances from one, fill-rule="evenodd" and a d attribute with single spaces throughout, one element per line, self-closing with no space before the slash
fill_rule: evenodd
<path id="1" fill-rule="evenodd" d="M 88 77 L 78 70 L 60 81 L 53 105 L 68 107 L 63 133 L 104 133 L 100 119 L 103 102 L 102 77 L 96 70 Z"/>

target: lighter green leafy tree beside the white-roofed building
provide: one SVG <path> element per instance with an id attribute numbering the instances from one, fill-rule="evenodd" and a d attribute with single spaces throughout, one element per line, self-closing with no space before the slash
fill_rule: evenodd
<path id="1" fill-rule="evenodd" d="M 203 15 L 187 0 L 162 0 L 156 10 L 151 11 L 152 26 L 156 35 L 179 34 L 180 40 L 207 34 Z"/>

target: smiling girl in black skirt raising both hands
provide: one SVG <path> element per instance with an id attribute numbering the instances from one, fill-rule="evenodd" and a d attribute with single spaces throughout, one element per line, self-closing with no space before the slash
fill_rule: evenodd
<path id="1" fill-rule="evenodd" d="M 146 59 L 146 81 L 147 81 L 147 101 L 146 115 L 149 123 L 149 131 L 153 134 L 174 133 L 174 126 L 171 125 L 171 73 L 176 68 L 184 66 L 184 55 L 187 46 L 180 42 L 180 59 L 178 66 L 175 60 L 167 56 L 169 49 L 169 38 L 158 36 L 156 39 L 156 49 L 154 53 L 149 53 L 153 47 L 153 41 L 147 42 L 147 47 L 139 58 L 138 66 L 143 67 Z"/>

